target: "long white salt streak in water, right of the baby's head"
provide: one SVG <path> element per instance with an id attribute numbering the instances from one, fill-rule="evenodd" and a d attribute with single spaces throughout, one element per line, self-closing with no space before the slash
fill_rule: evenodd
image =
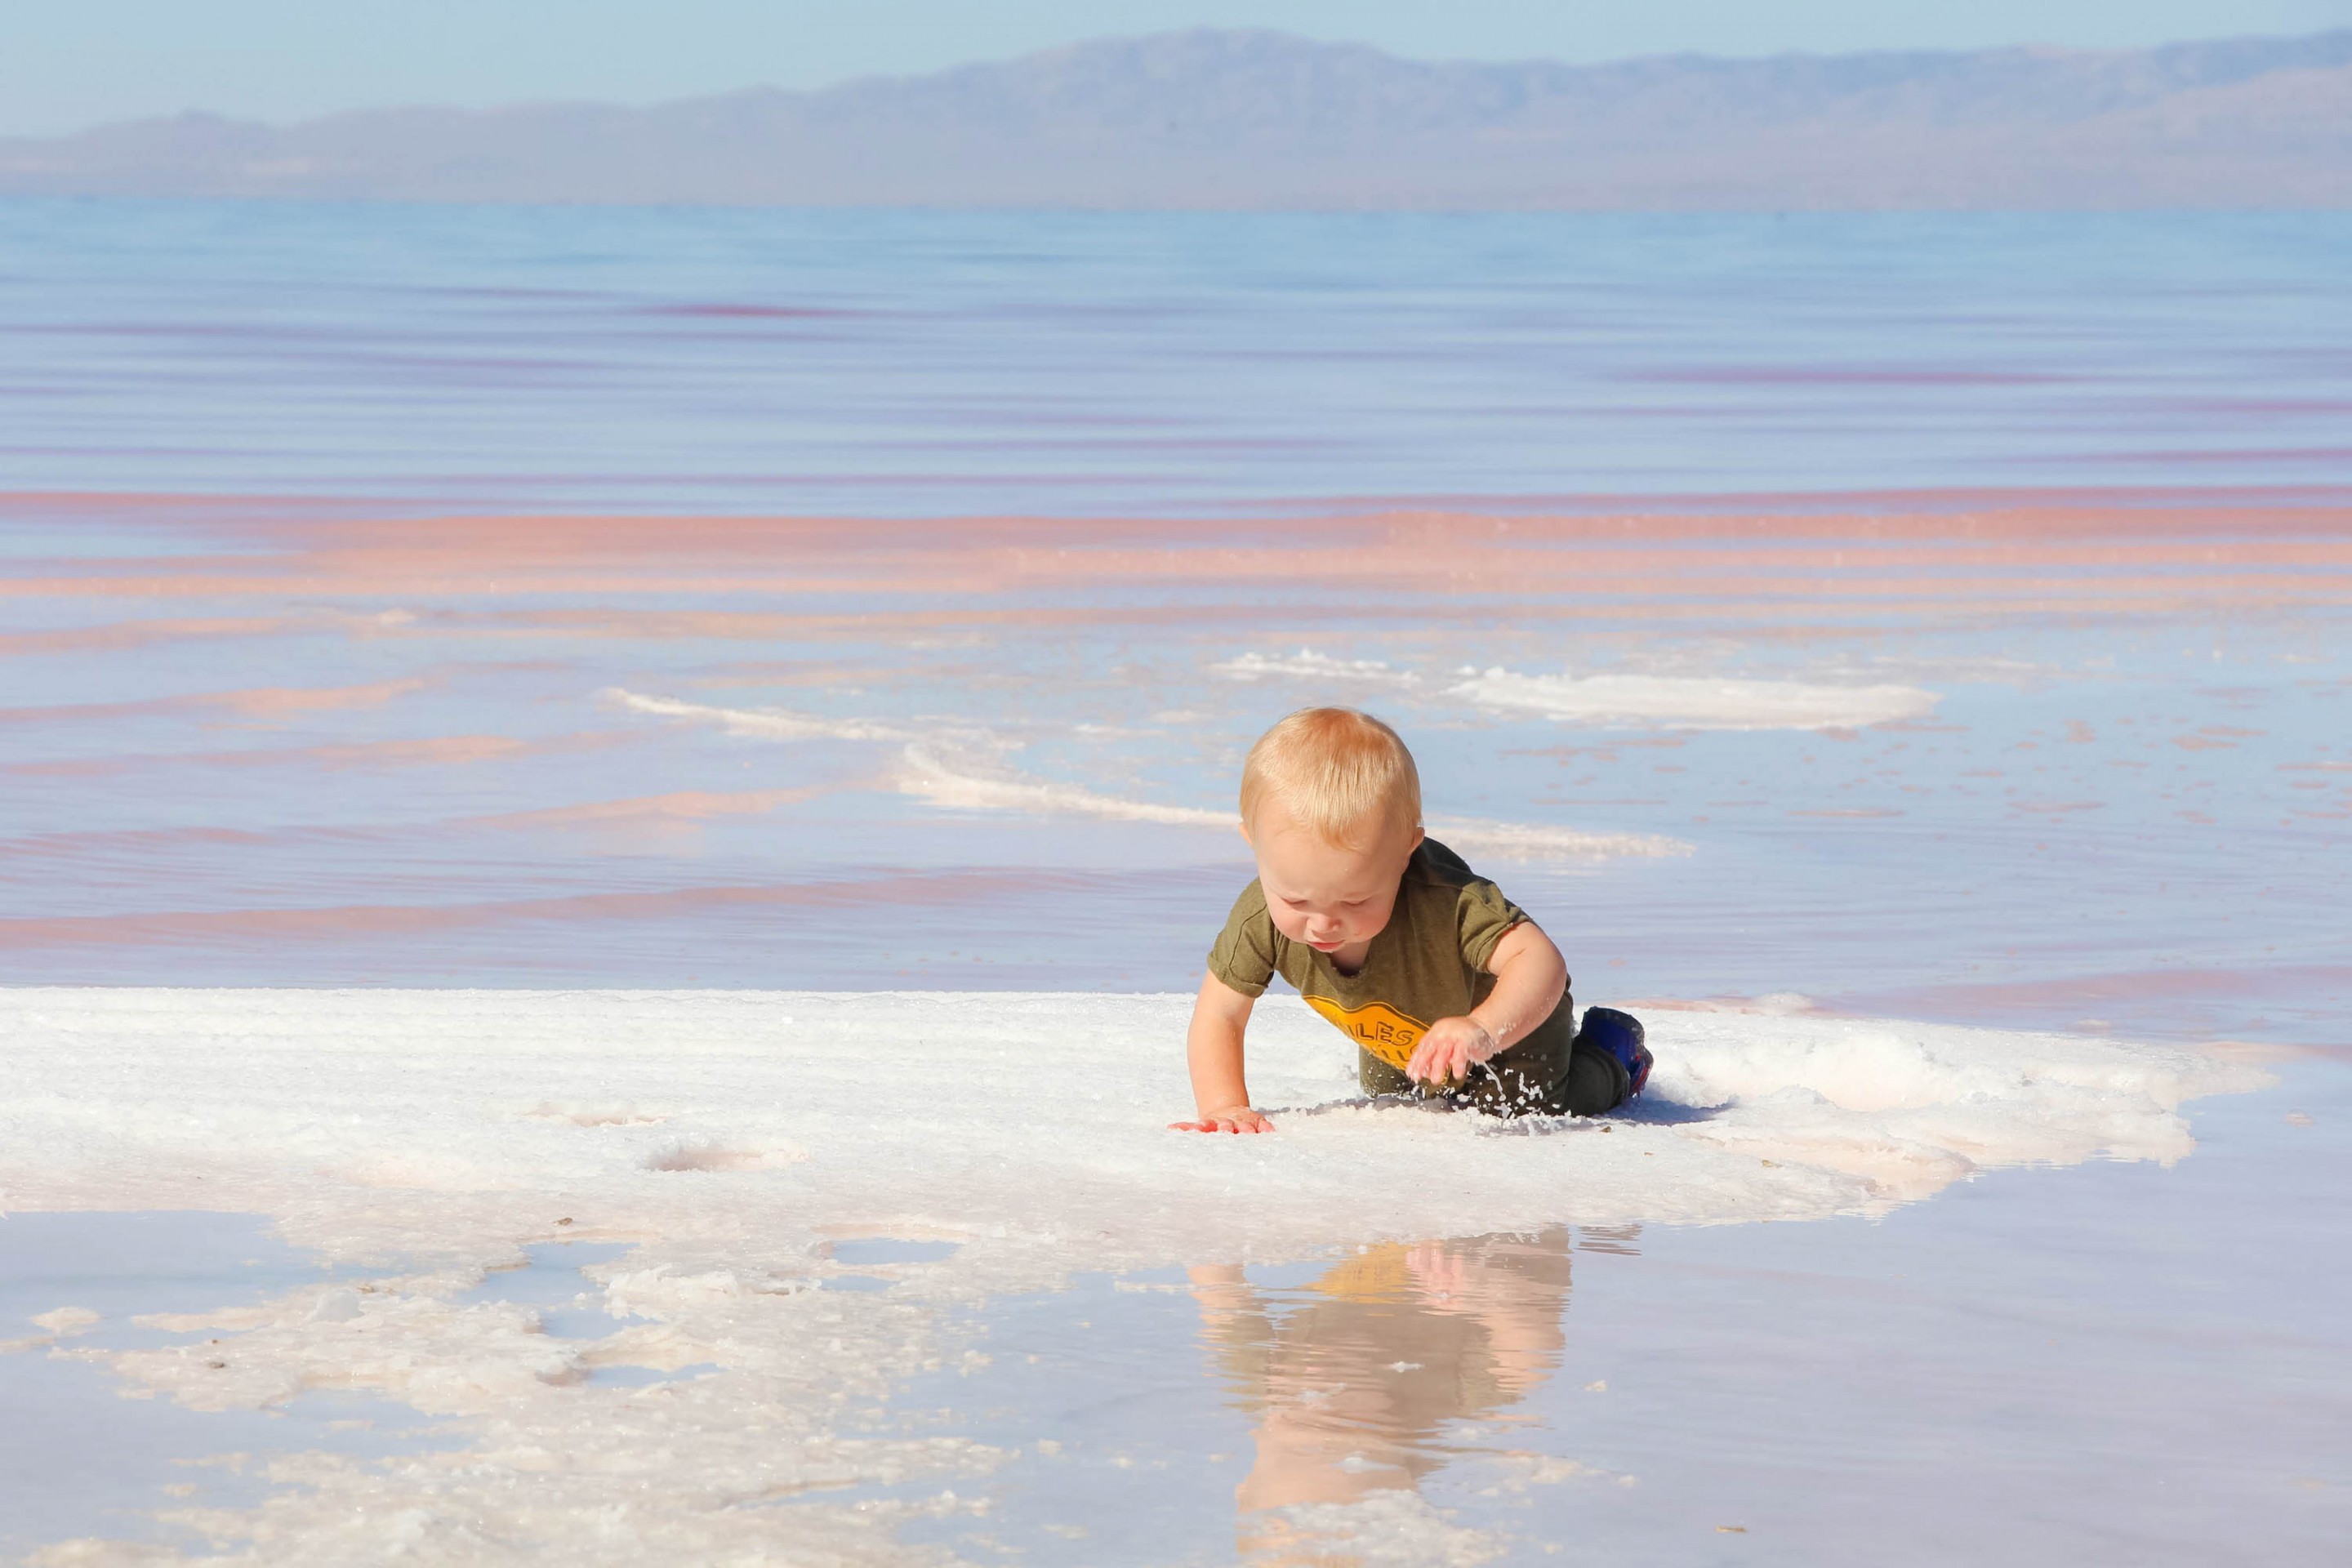
<path id="1" fill-rule="evenodd" d="M 1919 686 L 1823 686 L 1691 675 L 1517 675 L 1494 668 L 1446 689 L 1489 712 L 1613 729 L 1865 729 L 1924 719 Z"/>

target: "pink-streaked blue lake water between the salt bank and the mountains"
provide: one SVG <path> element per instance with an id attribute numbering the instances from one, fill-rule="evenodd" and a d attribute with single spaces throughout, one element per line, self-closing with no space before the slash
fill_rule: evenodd
<path id="1" fill-rule="evenodd" d="M 1185 987 L 1348 701 L 1585 999 L 2338 1037 L 2340 216 L 0 223 L 5 980 Z"/>

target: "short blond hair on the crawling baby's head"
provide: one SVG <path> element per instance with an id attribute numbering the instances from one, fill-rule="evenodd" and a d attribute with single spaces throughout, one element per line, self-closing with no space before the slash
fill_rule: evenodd
<path id="1" fill-rule="evenodd" d="M 1258 736 L 1242 764 L 1244 827 L 1268 799 L 1334 849 L 1364 849 L 1388 830 L 1421 827 L 1414 755 L 1397 731 L 1355 708 L 1301 708 Z"/>

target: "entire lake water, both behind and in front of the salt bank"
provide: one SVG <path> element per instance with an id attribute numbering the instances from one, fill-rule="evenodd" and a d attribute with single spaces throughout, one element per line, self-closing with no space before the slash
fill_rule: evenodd
<path id="1" fill-rule="evenodd" d="M 2286 1086 L 1882 1222 L 964 1302 L 990 1368 L 875 1371 L 870 1434 L 1021 1453 L 873 1483 L 903 1540 L 1298 1561 L 1371 1497 L 1414 1561 L 2328 1561 L 2347 259 L 2296 214 L 0 202 L 0 985 L 1190 990 L 1249 741 L 1364 705 L 1581 1001 Z M 14 1316 L 120 1349 L 310 1274 L 240 1225 Z M 861 1267 L 809 1312 L 920 1298 Z M 480 1300 L 588 1333 L 555 1274 Z M 45 1354 L 0 1396 L 85 1406 Z M 155 1535 L 212 1441 L 172 1410 L 0 1540 Z"/>

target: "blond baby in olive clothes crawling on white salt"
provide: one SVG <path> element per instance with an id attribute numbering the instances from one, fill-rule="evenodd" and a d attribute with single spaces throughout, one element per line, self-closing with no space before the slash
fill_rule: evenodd
<path id="1" fill-rule="evenodd" d="M 1588 1009 L 1576 1032 L 1552 938 L 1421 832 L 1421 776 L 1388 724 L 1301 708 L 1242 766 L 1258 879 L 1209 950 L 1185 1056 L 1190 1133 L 1270 1133 L 1242 1034 L 1279 973 L 1357 1044 L 1367 1093 L 1444 1095 L 1496 1117 L 1592 1117 L 1649 1079 L 1642 1025 Z"/>

